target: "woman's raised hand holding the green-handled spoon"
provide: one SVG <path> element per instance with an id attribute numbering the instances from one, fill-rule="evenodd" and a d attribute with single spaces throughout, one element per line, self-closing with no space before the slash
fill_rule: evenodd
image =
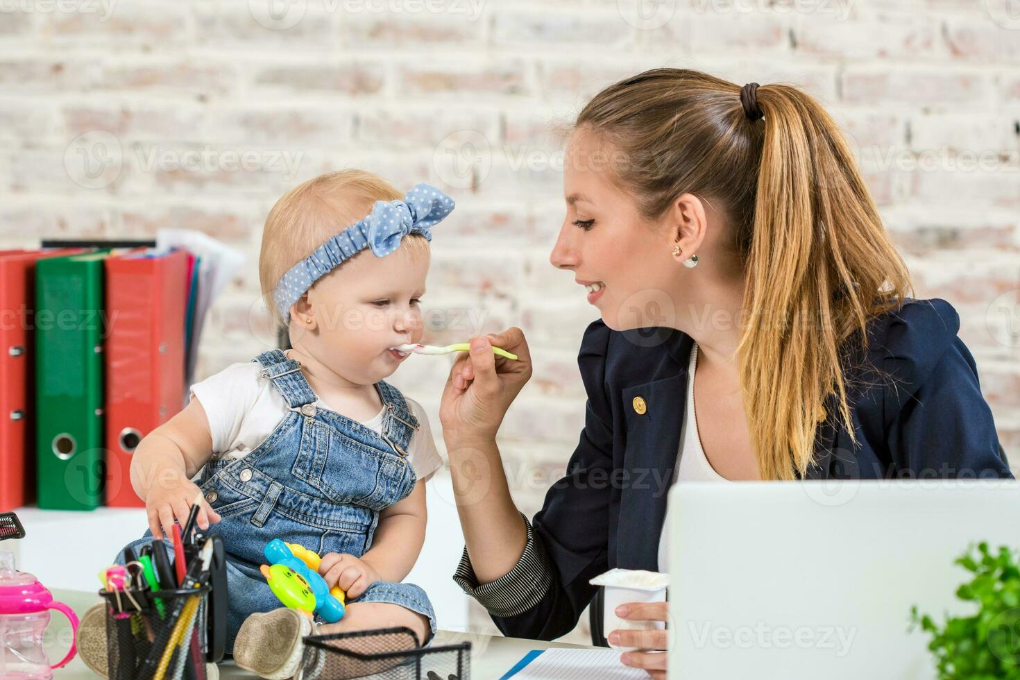
<path id="1" fill-rule="evenodd" d="M 496 346 L 517 355 L 497 357 Z M 520 328 L 471 338 L 454 362 L 443 390 L 440 420 L 448 438 L 495 439 L 510 404 L 531 377 L 531 355 Z"/>

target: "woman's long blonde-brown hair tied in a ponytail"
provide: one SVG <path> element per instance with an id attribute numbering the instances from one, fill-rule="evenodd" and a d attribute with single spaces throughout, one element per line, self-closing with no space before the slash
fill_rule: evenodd
<path id="1" fill-rule="evenodd" d="M 620 153 L 614 178 L 645 217 L 661 217 L 684 193 L 728 216 L 745 277 L 736 360 L 758 472 L 792 479 L 814 463 L 830 409 L 857 441 L 844 342 L 859 333 L 866 348 L 867 322 L 912 287 L 821 105 L 795 87 L 764 85 L 764 121 L 753 121 L 740 95 L 707 73 L 657 68 L 600 92 L 575 127 Z"/>

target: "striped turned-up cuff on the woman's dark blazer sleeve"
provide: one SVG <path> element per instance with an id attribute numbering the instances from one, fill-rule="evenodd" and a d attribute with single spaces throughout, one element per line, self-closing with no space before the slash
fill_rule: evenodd
<path id="1" fill-rule="evenodd" d="M 527 517 L 521 517 L 527 529 L 527 543 L 513 569 L 495 581 L 479 584 L 465 545 L 453 576 L 464 592 L 477 599 L 491 615 L 500 618 L 517 616 L 532 609 L 553 582 L 553 566 L 542 541 L 536 538 Z"/>

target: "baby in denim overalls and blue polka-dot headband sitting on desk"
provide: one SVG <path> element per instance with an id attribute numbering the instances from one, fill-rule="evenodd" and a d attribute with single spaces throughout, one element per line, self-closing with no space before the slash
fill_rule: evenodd
<path id="1" fill-rule="evenodd" d="M 136 450 L 132 483 L 150 530 L 132 547 L 183 525 L 201 488 L 197 523 L 227 553 L 226 651 L 262 677 L 291 677 L 313 632 L 406 626 L 423 643 L 436 632 L 425 592 L 402 581 L 424 541 L 425 481 L 443 461 L 421 406 L 384 378 L 407 357 L 391 348 L 421 339 L 430 227 L 453 206 L 427 185 L 402 196 L 360 170 L 280 198 L 259 277 L 293 349 L 195 384 L 188 407 Z M 259 573 L 273 538 L 322 556 L 319 573 L 347 593 L 339 623 L 313 631 L 280 609 Z"/>

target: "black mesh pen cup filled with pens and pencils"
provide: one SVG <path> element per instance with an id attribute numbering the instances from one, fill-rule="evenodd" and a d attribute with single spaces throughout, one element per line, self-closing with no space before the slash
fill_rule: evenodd
<path id="1" fill-rule="evenodd" d="M 206 680 L 204 613 L 209 590 L 209 586 L 160 590 L 158 600 L 162 608 L 156 605 L 157 597 L 150 590 L 100 590 L 107 605 L 107 677 Z M 189 608 L 192 597 L 197 599 Z M 175 617 L 177 611 L 182 614 Z"/>

